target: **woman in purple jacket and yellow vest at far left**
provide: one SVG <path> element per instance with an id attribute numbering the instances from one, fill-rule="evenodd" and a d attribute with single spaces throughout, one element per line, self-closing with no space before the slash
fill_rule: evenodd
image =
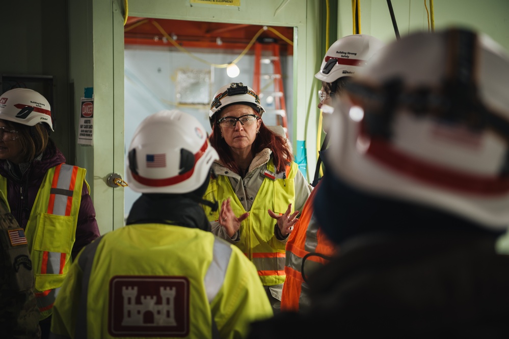
<path id="1" fill-rule="evenodd" d="M 100 235 L 86 170 L 65 163 L 52 131 L 51 107 L 37 91 L 0 96 L 0 192 L 26 235 L 43 339 L 72 260 Z"/>

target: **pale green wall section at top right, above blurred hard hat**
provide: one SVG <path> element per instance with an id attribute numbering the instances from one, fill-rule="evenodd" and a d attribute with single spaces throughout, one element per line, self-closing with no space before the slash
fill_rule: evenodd
<path id="1" fill-rule="evenodd" d="M 434 18 L 435 30 L 449 25 L 468 27 L 488 34 L 509 50 L 509 2 L 506 0 L 392 0 L 390 3 L 400 36 L 414 30 L 428 31 L 428 26 L 431 31 Z M 361 33 L 384 42 L 396 39 L 386 1 L 361 0 L 360 9 Z M 351 0 L 339 0 L 338 17 L 338 36 L 352 34 Z"/>

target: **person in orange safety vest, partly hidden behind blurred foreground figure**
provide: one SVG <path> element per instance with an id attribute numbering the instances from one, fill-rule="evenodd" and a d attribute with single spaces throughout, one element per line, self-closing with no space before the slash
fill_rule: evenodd
<path id="1" fill-rule="evenodd" d="M 337 40 L 327 50 L 320 71 L 315 77 L 322 80 L 322 89 L 318 91 L 318 108 L 322 109 L 324 132 L 328 132 L 330 115 L 339 100 L 344 85 L 360 71 L 373 54 L 377 53 L 383 43 L 366 34 L 356 34 Z M 320 157 L 327 146 L 327 136 L 322 145 Z M 316 171 L 319 171 L 318 160 Z M 316 174 L 315 173 L 315 177 Z M 304 205 L 299 221 L 286 243 L 286 280 L 281 296 L 281 311 L 299 311 L 309 305 L 308 286 L 306 276 L 317 267 L 327 263 L 337 247 L 332 243 L 323 230 L 319 228 L 313 210 L 316 188 L 320 181 L 313 183 L 315 190 L 311 192 Z"/>

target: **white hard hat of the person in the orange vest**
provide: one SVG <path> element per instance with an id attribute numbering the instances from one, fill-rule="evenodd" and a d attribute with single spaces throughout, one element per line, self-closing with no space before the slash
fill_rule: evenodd
<path id="1" fill-rule="evenodd" d="M 383 46 L 382 41 L 367 34 L 343 37 L 329 47 L 315 78 L 334 82 L 344 76 L 353 76 Z"/>

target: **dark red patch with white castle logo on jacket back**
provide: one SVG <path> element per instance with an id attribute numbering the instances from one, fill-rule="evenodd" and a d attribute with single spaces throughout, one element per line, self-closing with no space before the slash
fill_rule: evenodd
<path id="1" fill-rule="evenodd" d="M 189 280 L 185 276 L 120 276 L 110 280 L 112 336 L 189 334 Z"/>

